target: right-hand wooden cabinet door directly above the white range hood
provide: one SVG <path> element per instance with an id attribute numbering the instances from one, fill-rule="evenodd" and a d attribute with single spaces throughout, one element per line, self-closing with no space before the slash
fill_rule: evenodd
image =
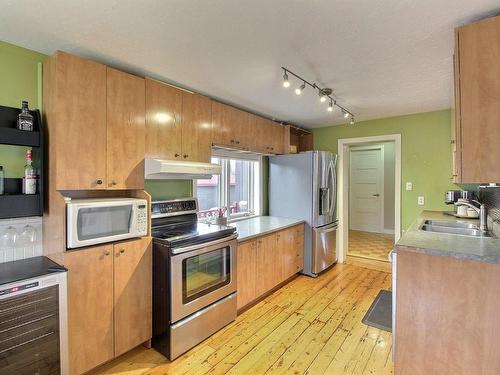
<path id="1" fill-rule="evenodd" d="M 182 159 L 210 162 L 212 103 L 201 95 L 182 93 Z"/>

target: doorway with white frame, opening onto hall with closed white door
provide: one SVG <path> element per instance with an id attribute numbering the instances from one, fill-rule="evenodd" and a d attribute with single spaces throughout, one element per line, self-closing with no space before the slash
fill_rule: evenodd
<path id="1" fill-rule="evenodd" d="M 401 135 L 339 139 L 339 262 L 389 262 L 400 237 Z"/>

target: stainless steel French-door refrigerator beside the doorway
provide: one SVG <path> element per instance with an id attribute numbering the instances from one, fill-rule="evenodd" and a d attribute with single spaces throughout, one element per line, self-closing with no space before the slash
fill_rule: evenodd
<path id="1" fill-rule="evenodd" d="M 338 259 L 336 167 L 326 151 L 269 158 L 269 214 L 305 221 L 303 273 L 313 277 Z"/>

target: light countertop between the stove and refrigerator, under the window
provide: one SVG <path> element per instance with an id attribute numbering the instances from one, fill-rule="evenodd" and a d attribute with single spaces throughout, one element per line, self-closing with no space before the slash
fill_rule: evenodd
<path id="1" fill-rule="evenodd" d="M 238 232 L 238 242 L 247 241 L 268 233 L 276 232 L 303 223 L 303 220 L 276 216 L 259 216 L 230 223 Z"/>

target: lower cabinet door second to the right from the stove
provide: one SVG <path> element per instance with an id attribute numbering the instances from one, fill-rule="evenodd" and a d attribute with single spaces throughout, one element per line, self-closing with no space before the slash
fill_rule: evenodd
<path id="1" fill-rule="evenodd" d="M 255 293 L 257 296 L 270 291 L 280 282 L 281 265 L 276 249 L 276 234 L 263 236 L 257 240 L 256 274 L 258 277 L 255 282 Z"/>

